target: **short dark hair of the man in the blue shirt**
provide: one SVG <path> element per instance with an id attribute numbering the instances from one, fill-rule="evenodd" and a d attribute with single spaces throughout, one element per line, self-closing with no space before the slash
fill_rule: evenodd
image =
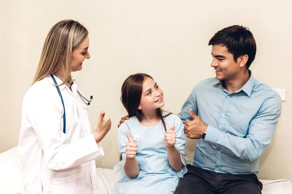
<path id="1" fill-rule="evenodd" d="M 244 26 L 234 25 L 215 33 L 209 40 L 210 45 L 225 46 L 233 55 L 233 59 L 237 62 L 237 58 L 242 55 L 248 55 L 246 67 L 249 68 L 256 57 L 256 40 L 253 33 Z"/>

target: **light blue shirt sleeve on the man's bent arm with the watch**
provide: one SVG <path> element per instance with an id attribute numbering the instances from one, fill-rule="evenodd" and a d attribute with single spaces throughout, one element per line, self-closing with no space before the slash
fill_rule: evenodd
<path id="1" fill-rule="evenodd" d="M 272 141 L 281 114 L 281 98 L 267 98 L 251 121 L 246 137 L 237 137 L 208 126 L 203 142 L 225 150 L 242 160 L 256 161 Z"/>

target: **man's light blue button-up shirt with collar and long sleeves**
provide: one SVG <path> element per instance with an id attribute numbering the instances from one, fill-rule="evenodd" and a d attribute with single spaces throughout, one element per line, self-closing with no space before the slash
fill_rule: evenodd
<path id="1" fill-rule="evenodd" d="M 193 165 L 217 173 L 258 173 L 259 157 L 271 142 L 281 113 L 281 98 L 268 85 L 250 79 L 229 94 L 222 82 L 199 82 L 183 104 L 179 117 L 192 120 L 192 108 L 208 125 L 199 139 Z"/>

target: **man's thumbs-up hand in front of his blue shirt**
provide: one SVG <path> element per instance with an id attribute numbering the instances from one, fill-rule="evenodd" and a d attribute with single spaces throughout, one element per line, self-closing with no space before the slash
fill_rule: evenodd
<path id="1" fill-rule="evenodd" d="M 192 121 L 185 120 L 184 121 L 184 129 L 186 137 L 190 139 L 200 139 L 202 132 L 207 130 L 207 125 L 201 120 L 199 116 L 197 116 L 192 109 L 189 110 L 189 114 L 193 118 Z"/>

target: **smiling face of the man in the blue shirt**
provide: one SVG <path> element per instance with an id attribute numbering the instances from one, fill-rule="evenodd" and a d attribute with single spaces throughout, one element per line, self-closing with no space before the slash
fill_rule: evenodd
<path id="1" fill-rule="evenodd" d="M 212 45 L 213 60 L 211 67 L 214 67 L 216 78 L 220 81 L 232 81 L 238 79 L 240 71 L 240 59 L 234 61 L 233 55 L 228 52 L 225 46 Z"/>

